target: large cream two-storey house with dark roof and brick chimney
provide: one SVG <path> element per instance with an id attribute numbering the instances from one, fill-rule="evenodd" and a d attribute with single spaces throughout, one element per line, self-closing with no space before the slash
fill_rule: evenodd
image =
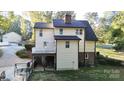
<path id="1" fill-rule="evenodd" d="M 94 66 L 97 37 L 88 21 L 72 20 L 67 14 L 52 24 L 36 22 L 34 33 L 34 67 L 77 70 L 80 65 Z"/>

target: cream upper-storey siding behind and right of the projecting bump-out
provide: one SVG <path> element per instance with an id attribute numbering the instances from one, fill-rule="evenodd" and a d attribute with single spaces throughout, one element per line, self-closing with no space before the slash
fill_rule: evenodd
<path id="1" fill-rule="evenodd" d="M 55 35 L 60 35 L 60 28 L 55 28 Z M 79 42 L 79 52 L 84 52 L 84 29 L 83 28 L 63 28 L 63 35 L 76 35 L 76 29 L 82 29 L 82 35 L 77 35 L 81 40 Z"/>

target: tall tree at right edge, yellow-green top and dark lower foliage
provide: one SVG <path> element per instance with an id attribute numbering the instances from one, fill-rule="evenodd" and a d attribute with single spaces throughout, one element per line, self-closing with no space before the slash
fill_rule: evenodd
<path id="1" fill-rule="evenodd" d="M 111 42 L 116 50 L 124 50 L 124 11 L 117 12 L 111 24 Z"/>

